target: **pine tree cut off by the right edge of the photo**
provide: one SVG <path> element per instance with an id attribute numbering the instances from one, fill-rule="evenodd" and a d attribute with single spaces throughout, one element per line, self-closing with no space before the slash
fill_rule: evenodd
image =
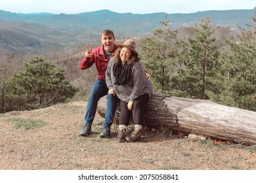
<path id="1" fill-rule="evenodd" d="M 256 7 L 255 16 L 247 29 L 238 25 L 240 35 L 238 42 L 227 41 L 231 46 L 231 54 L 224 57 L 223 75 L 228 79 L 226 93 L 232 99 L 224 101 L 234 107 L 256 111 Z"/>

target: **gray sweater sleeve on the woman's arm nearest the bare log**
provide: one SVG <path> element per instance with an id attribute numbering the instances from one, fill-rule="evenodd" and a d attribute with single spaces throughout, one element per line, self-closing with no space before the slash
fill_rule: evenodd
<path id="1" fill-rule="evenodd" d="M 130 101 L 134 102 L 142 93 L 146 86 L 146 76 L 140 61 L 133 65 L 133 90 L 130 95 Z"/>

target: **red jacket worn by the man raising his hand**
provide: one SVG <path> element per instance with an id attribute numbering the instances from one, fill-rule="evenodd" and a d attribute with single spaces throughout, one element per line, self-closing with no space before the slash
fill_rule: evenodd
<path id="1" fill-rule="evenodd" d="M 114 44 L 115 50 L 117 48 Z M 112 54 L 114 56 L 114 52 Z M 93 56 L 91 58 L 84 57 L 80 62 L 80 69 L 88 69 L 94 63 L 96 64 L 96 69 L 98 71 L 98 79 L 105 80 L 105 72 L 110 59 L 104 54 L 104 46 L 100 46 L 93 50 Z"/>

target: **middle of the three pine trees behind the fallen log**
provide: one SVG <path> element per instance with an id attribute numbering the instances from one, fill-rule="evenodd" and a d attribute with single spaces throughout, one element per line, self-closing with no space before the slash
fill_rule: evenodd
<path id="1" fill-rule="evenodd" d="M 218 93 L 216 77 L 220 67 L 219 51 L 215 44 L 214 30 L 207 17 L 195 28 L 194 38 L 181 42 L 179 63 L 184 65 L 173 77 L 173 93 L 180 97 L 209 99 Z"/>

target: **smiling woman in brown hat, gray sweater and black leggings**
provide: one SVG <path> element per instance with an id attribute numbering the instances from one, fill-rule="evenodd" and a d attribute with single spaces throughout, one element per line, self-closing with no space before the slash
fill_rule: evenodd
<path id="1" fill-rule="evenodd" d="M 117 141 L 135 142 L 141 138 L 144 105 L 152 95 L 152 84 L 135 50 L 135 42 L 117 44 L 115 56 L 108 62 L 106 84 L 108 93 L 120 99 L 119 132 Z M 126 137 L 126 129 L 133 114 L 135 129 Z"/>

